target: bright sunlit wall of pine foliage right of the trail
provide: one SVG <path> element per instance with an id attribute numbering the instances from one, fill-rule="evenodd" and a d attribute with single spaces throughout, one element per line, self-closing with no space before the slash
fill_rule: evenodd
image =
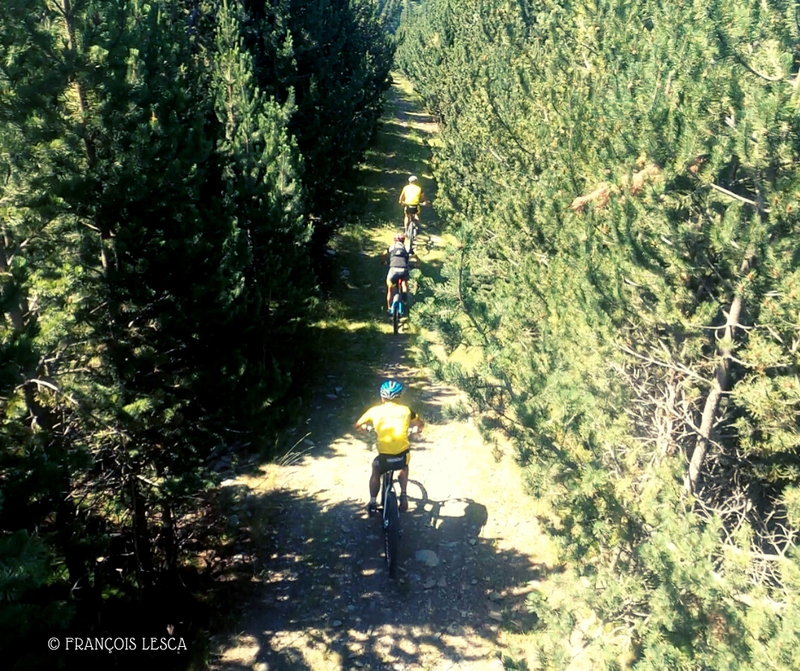
<path id="1" fill-rule="evenodd" d="M 542 668 L 576 623 L 593 668 L 800 668 L 796 9 L 427 0 L 400 27 L 463 243 L 425 313 L 478 359 L 432 362 L 555 511 Z"/>

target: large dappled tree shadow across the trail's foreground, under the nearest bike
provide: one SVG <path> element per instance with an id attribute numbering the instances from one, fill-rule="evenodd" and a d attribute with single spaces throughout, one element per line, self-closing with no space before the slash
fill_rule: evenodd
<path id="1" fill-rule="evenodd" d="M 457 664 L 491 656 L 499 628 L 528 617 L 515 588 L 541 578 L 544 568 L 479 536 L 491 515 L 480 502 L 433 501 L 413 480 L 409 498 L 402 577 L 393 581 L 379 520 L 367 518 L 361 502 L 324 491 L 253 497 L 257 556 L 252 575 L 239 578 L 260 583 L 253 617 L 217 641 L 227 652 L 211 667 L 427 668 L 433 658 Z M 464 599 L 467 590 L 483 594 L 481 608 L 469 606 L 475 599 Z"/>

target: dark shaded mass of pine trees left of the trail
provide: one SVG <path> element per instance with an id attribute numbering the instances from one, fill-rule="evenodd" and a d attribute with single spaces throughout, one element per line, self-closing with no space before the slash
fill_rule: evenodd
<path id="1" fill-rule="evenodd" d="M 312 215 L 390 56 L 366 0 L 0 4 L 4 668 L 113 599 L 181 618 L 197 495 L 312 356 Z"/>

